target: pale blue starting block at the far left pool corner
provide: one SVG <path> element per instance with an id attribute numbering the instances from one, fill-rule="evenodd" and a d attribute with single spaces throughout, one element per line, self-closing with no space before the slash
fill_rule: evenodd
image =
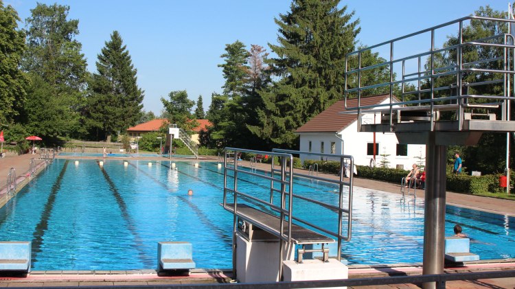
<path id="1" fill-rule="evenodd" d="M 30 272 L 31 242 L 0 242 L 0 271 Z"/>

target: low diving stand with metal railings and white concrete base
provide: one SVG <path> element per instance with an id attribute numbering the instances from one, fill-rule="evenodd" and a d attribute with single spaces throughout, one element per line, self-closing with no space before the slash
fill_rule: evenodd
<path id="1" fill-rule="evenodd" d="M 258 154 L 270 157 L 270 170 L 259 172 L 255 167 L 242 167 L 243 162 L 236 157 L 253 158 Z M 293 155 L 300 154 L 340 159 L 339 179 L 297 174 Z M 351 174 L 350 178 L 345 178 L 345 165 L 354 165 L 352 156 L 282 149 L 264 152 L 225 148 L 224 196 L 220 205 L 233 214 L 233 273 L 239 281 L 315 280 L 321 276 L 321 271 L 332 278 L 347 278 L 347 266 L 341 262 L 341 243 L 352 237 L 354 176 Z M 239 185 L 249 177 L 268 181 L 270 186 L 263 192 L 255 187 Z M 335 204 L 320 198 L 320 194 L 297 194 L 294 178 L 338 185 L 339 189 L 331 194 L 337 194 L 340 201 Z M 298 203 L 301 206 L 296 205 Z M 296 208 L 295 213 L 293 208 Z M 306 213 L 322 208 L 335 214 L 330 219 L 333 222 L 330 226 Z M 326 245 L 335 242 L 336 258 L 330 259 L 330 249 Z M 321 260 L 315 257 L 317 254 L 311 253 L 322 255 Z"/>

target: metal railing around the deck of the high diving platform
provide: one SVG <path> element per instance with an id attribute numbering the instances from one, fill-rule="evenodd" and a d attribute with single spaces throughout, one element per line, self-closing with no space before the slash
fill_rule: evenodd
<path id="1" fill-rule="evenodd" d="M 465 24 L 467 21 L 490 22 L 496 23 L 497 25 L 506 25 L 508 33 L 492 35 L 481 39 L 472 39 L 471 41 L 464 41 L 464 27 L 466 27 Z M 380 111 L 385 112 L 386 108 L 389 113 L 390 131 L 392 131 L 393 110 L 395 108 L 399 108 L 400 106 L 422 105 L 426 105 L 425 109 L 431 112 L 428 116 L 429 122 L 431 123 L 431 130 L 433 130 L 433 124 L 437 120 L 435 111 L 438 111 L 440 108 L 442 108 L 442 106 L 438 105 L 442 103 L 454 103 L 457 109 L 456 120 L 459 124 L 458 129 L 462 130 L 464 110 L 470 109 L 468 102 L 474 99 L 481 100 L 481 102 L 494 102 L 494 104 L 499 104 L 499 102 L 501 102 L 503 104 L 501 106 L 501 119 L 510 120 L 510 104 L 508 101 L 513 99 L 511 96 L 512 84 L 510 84 L 512 80 L 510 80 L 510 78 L 514 76 L 515 73 L 514 63 L 512 61 L 514 54 L 513 49 L 515 49 L 515 45 L 514 36 L 510 34 L 511 23 L 515 23 L 515 20 L 467 16 L 455 21 L 450 21 L 442 25 L 428 28 L 426 30 L 421 30 L 419 32 L 395 38 L 391 41 L 379 43 L 378 45 L 365 47 L 363 49 L 359 49 L 357 51 L 351 52 L 350 54 L 347 54 L 345 59 L 345 108 L 347 108 L 347 110 L 358 111 L 358 128 L 361 127 L 361 115 L 363 113 L 377 113 Z M 450 25 L 459 26 L 457 36 L 458 43 L 455 45 L 449 45 L 444 48 L 436 48 L 435 31 L 441 28 L 448 28 Z M 394 47 L 396 47 L 396 44 L 400 43 L 400 45 L 402 45 L 402 41 L 417 41 L 420 43 L 420 39 L 415 39 L 415 37 L 424 36 L 422 34 L 431 34 L 430 41 L 427 43 L 429 47 L 431 47 L 429 51 L 406 57 L 394 57 L 393 51 Z M 389 59 L 376 65 L 363 67 L 362 55 L 369 54 L 371 53 L 372 49 L 378 49 L 379 47 L 389 47 Z M 471 49 L 490 49 L 494 55 L 489 56 L 489 58 L 466 62 L 467 60 L 465 59 L 466 57 L 464 56 L 464 51 Z M 446 58 L 450 64 L 446 64 L 444 67 L 438 67 L 435 64 L 435 60 L 442 58 L 442 54 L 452 55 L 453 57 Z M 428 66 L 428 69 L 422 69 L 422 59 L 424 58 L 427 58 L 426 65 Z M 410 60 L 416 61 L 418 63 L 417 71 L 415 73 L 406 73 L 405 71 L 406 63 Z M 401 65 L 402 75 L 400 80 L 394 79 L 394 65 Z M 483 67 L 481 67 L 481 65 Z M 363 76 L 366 73 L 371 73 L 371 71 L 374 71 L 374 69 L 378 68 L 389 69 L 389 81 L 363 85 Z M 477 78 L 475 82 L 467 83 L 465 76 L 470 73 L 483 73 L 483 75 L 499 77 L 496 79 L 487 80 L 481 80 L 481 78 Z M 444 77 L 452 79 L 452 81 L 449 80 L 449 83 L 445 84 L 436 83 L 436 80 L 442 79 Z M 413 82 L 416 82 L 415 89 L 412 91 L 406 91 L 407 84 Z M 464 92 L 462 89 L 457 89 L 458 87 L 470 88 L 477 86 L 488 86 L 492 84 L 502 84 L 501 95 L 487 95 L 479 93 L 469 94 L 468 91 Z M 402 93 L 401 95 L 398 95 L 398 97 L 400 96 L 400 100 L 394 100 L 393 90 L 394 87 L 398 85 L 401 86 Z M 424 85 L 426 87 L 423 87 Z M 389 94 L 389 102 L 385 104 L 362 104 L 361 100 L 364 93 L 371 89 L 380 88 L 385 88 L 389 91 L 387 92 L 387 95 Z M 444 90 L 450 91 L 449 95 L 439 97 L 437 93 Z M 413 97 L 411 97 L 411 99 L 404 99 L 407 95 L 414 95 L 415 99 L 413 99 Z M 422 97 L 422 95 L 426 95 L 426 97 Z M 357 98 L 357 103 L 356 105 L 353 104 L 350 106 L 348 100 L 353 98 Z M 485 109 L 488 108 L 488 106 L 477 106 L 476 108 L 478 107 Z M 382 109 L 374 110 L 374 108 Z"/>

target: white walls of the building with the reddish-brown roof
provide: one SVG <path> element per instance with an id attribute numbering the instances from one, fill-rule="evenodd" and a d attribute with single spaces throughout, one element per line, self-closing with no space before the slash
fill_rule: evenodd
<path id="1" fill-rule="evenodd" d="M 373 116 L 367 116 L 373 120 Z M 377 116 L 376 122 L 379 122 Z M 343 139 L 338 139 L 334 133 L 301 133 L 300 134 L 300 150 L 308 151 L 309 141 L 312 143 L 312 152 L 321 152 L 321 141 L 324 144 L 324 152 L 330 153 L 331 141 L 336 142 L 336 154 L 350 154 L 354 157 L 356 165 L 369 165 L 372 155 L 367 155 L 367 143 L 373 143 L 374 133 L 373 132 L 358 132 L 358 122 L 353 122 L 350 126 L 347 126 L 339 135 Z M 392 132 L 376 132 L 376 143 L 379 145 L 379 152 L 376 155 L 376 166 L 380 165 L 382 157 L 380 154 L 389 154 L 387 160 L 389 161 L 389 167 L 396 167 L 396 165 L 403 165 L 404 170 L 413 165 L 413 163 L 419 163 L 420 160 L 417 157 L 426 157 L 426 146 L 424 145 L 408 145 L 407 156 L 396 156 L 397 150 L 397 137 Z M 343 150 L 342 150 L 343 144 Z M 304 159 L 320 159 L 317 156 L 301 155 L 301 161 Z M 325 158 L 324 158 L 325 159 Z M 358 172 L 359 174 L 359 172 Z"/>

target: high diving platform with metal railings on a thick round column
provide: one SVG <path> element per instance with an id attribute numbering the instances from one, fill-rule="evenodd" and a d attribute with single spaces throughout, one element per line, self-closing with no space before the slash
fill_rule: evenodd
<path id="1" fill-rule="evenodd" d="M 424 275 L 444 270 L 447 146 L 474 146 L 485 132 L 505 133 L 510 163 L 515 17 L 511 8 L 508 14 L 509 19 L 466 16 L 345 57 L 342 113 L 357 115 L 358 132 L 390 132 L 399 143 L 426 145 Z M 455 34 L 437 43 L 441 38 L 435 35 L 449 31 Z M 403 50 L 413 52 L 397 53 Z M 378 62 L 362 62 L 374 54 Z M 385 77 L 374 78 L 378 73 Z M 380 93 L 380 104 L 364 100 Z M 506 171 L 509 182 L 509 165 Z M 435 282 L 422 287 L 435 288 Z"/>

